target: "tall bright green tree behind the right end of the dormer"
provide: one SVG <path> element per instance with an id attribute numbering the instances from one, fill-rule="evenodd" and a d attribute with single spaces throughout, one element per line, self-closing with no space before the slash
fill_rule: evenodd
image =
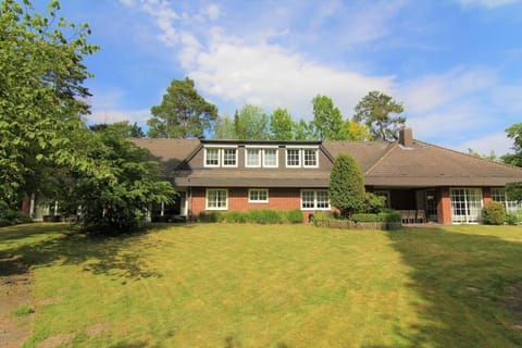
<path id="1" fill-rule="evenodd" d="M 318 95 L 312 99 L 313 120 L 310 123 L 319 139 L 339 140 L 344 125 L 343 115 L 334 102 L 326 96 Z"/>

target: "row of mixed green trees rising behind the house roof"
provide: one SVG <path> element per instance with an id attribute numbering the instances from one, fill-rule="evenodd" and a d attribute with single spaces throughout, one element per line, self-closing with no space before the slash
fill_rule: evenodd
<path id="1" fill-rule="evenodd" d="M 246 104 L 234 116 L 217 114 L 217 108 L 204 100 L 194 80 L 173 79 L 162 102 L 151 108 L 147 122 L 149 138 L 204 138 L 241 140 L 396 140 L 405 127 L 399 116 L 402 104 L 391 97 L 370 91 L 358 103 L 351 119 L 345 117 L 332 98 L 312 99 L 313 119 L 295 121 L 284 108 L 271 114 Z"/>

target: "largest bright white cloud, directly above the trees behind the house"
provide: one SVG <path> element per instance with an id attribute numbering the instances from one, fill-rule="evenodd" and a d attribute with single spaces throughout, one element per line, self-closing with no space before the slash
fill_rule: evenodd
<path id="1" fill-rule="evenodd" d="M 348 116 L 369 90 L 389 90 L 391 76 L 334 70 L 276 45 L 247 45 L 214 30 L 189 75 L 204 92 L 236 103 L 287 108 L 296 117 L 311 114 L 311 99 L 327 95 Z"/>

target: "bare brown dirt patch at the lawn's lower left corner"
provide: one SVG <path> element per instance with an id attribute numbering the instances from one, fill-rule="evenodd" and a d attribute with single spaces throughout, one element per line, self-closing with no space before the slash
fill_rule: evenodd
<path id="1" fill-rule="evenodd" d="M 20 347 L 30 334 L 33 314 L 14 311 L 30 306 L 33 274 L 20 261 L 0 253 L 0 347 Z"/>

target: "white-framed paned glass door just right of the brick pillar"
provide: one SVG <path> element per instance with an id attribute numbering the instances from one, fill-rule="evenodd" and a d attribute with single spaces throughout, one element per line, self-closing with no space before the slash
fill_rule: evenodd
<path id="1" fill-rule="evenodd" d="M 453 224 L 476 224 L 482 209 L 482 189 L 451 188 L 451 222 Z"/>

